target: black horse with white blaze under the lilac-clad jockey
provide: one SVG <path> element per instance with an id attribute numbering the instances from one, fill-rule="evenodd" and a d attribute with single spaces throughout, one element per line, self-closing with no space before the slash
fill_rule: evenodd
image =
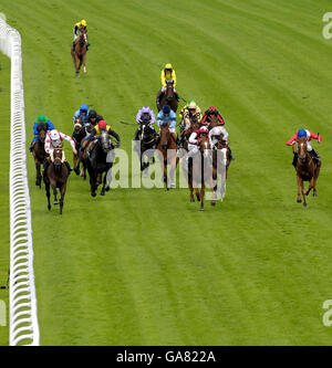
<path id="1" fill-rule="evenodd" d="M 141 162 L 141 171 L 144 171 L 144 177 L 146 177 L 151 160 L 155 164 L 154 150 L 156 148 L 156 132 L 151 127 L 149 122 L 141 123 L 139 143 L 141 150 L 137 154 Z"/>

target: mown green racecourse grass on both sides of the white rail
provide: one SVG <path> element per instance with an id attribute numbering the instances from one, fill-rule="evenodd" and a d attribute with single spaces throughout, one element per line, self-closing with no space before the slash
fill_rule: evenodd
<path id="1" fill-rule="evenodd" d="M 329 8 L 330 4 L 330 8 Z M 0 0 L 22 35 L 27 149 L 45 114 L 72 133 L 87 103 L 131 153 L 143 105 L 155 107 L 170 62 L 177 91 L 226 119 L 236 157 L 216 208 L 187 189 L 117 188 L 90 196 L 71 175 L 64 213 L 32 200 L 42 345 L 331 345 L 332 40 L 329 1 Z M 86 19 L 87 74 L 74 77 L 73 24 Z M 9 263 L 9 61 L 0 55 L 0 276 Z M 318 198 L 295 202 L 286 141 L 320 133 Z M 66 144 L 66 156 L 71 157 Z M 72 162 L 72 160 L 71 160 Z M 0 291 L 0 299 L 8 299 Z M 0 344 L 8 344 L 0 327 Z"/>

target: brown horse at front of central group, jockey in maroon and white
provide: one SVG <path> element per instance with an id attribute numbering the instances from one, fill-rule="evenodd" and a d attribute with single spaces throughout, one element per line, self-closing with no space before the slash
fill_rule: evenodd
<path id="1" fill-rule="evenodd" d="M 200 211 L 204 211 L 204 197 L 206 183 L 209 185 L 212 191 L 211 206 L 216 206 L 215 181 L 212 178 L 212 158 L 210 150 L 210 141 L 208 136 L 201 136 L 199 139 L 199 153 L 189 159 L 188 162 L 188 186 L 190 190 L 190 202 L 195 202 L 194 188 L 196 198 L 200 201 Z M 186 160 L 184 162 L 184 170 L 186 171 Z M 199 189 L 200 186 L 200 189 Z"/>

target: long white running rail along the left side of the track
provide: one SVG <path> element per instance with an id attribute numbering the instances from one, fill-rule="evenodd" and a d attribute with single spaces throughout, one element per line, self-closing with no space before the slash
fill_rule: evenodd
<path id="1" fill-rule="evenodd" d="M 9 344 L 39 345 L 25 154 L 21 36 L 1 18 L 0 50 L 11 59 Z"/>

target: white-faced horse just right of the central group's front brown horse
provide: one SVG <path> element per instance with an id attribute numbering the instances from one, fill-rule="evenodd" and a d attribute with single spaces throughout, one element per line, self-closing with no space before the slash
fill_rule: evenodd
<path id="1" fill-rule="evenodd" d="M 228 168 L 230 165 L 230 147 L 228 143 L 222 139 L 222 135 L 217 137 L 216 149 L 212 151 L 212 170 L 214 180 L 216 180 L 215 190 L 217 190 L 218 175 L 221 176 L 220 199 L 221 201 L 226 194 L 226 180 Z"/>

